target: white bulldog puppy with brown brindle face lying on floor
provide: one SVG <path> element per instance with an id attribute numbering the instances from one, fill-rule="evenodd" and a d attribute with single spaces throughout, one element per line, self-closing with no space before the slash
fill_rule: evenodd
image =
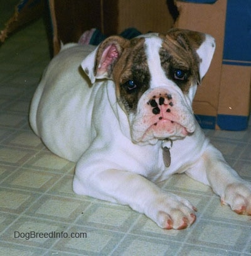
<path id="1" fill-rule="evenodd" d="M 205 138 L 191 108 L 214 50 L 210 35 L 179 29 L 63 47 L 29 120 L 51 152 L 77 162 L 77 194 L 129 205 L 179 230 L 195 222 L 196 208 L 155 183 L 185 173 L 233 211 L 251 214 L 250 182 Z"/>

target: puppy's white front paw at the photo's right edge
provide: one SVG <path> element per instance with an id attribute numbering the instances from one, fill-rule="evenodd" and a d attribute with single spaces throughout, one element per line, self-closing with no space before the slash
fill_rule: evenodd
<path id="1" fill-rule="evenodd" d="M 230 205 L 235 213 L 251 215 L 251 184 L 233 183 L 228 185 L 221 202 Z"/>

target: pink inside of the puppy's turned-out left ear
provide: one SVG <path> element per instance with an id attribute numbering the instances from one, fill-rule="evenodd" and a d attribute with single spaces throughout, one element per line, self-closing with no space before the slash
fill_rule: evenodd
<path id="1" fill-rule="evenodd" d="M 97 69 L 97 75 L 109 74 L 110 66 L 119 57 L 119 52 L 115 45 L 109 45 L 105 48 L 100 58 L 99 67 Z"/>

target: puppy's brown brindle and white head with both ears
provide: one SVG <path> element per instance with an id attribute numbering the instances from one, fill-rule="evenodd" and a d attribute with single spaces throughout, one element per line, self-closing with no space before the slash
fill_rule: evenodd
<path id="1" fill-rule="evenodd" d="M 132 40 L 110 36 L 82 62 L 95 79 L 112 79 L 129 118 L 132 140 L 156 143 L 195 131 L 191 104 L 215 51 L 204 33 L 173 29 Z"/>

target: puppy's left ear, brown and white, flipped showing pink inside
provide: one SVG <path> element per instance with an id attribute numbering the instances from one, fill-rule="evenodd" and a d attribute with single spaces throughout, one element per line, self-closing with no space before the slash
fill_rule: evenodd
<path id="1" fill-rule="evenodd" d="M 81 66 L 93 83 L 95 79 L 112 79 L 112 70 L 119 60 L 128 40 L 120 36 L 110 36 L 91 52 Z"/>

